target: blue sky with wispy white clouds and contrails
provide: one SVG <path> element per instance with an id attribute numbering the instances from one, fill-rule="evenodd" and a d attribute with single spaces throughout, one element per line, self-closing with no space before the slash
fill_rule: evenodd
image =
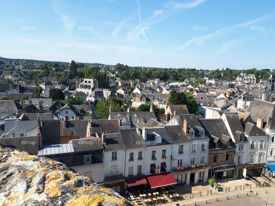
<path id="1" fill-rule="evenodd" d="M 274 69 L 275 1 L 0 0 L 0 56 Z"/>

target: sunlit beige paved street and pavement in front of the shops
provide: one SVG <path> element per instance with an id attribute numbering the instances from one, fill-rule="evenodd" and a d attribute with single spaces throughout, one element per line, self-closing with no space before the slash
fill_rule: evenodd
<path id="1" fill-rule="evenodd" d="M 259 181 L 262 181 L 259 179 Z M 256 183 L 250 180 L 243 179 L 229 179 L 217 181 L 220 191 L 215 191 L 211 186 L 206 183 L 199 183 L 198 185 L 177 185 L 174 187 L 175 192 L 179 195 L 188 195 L 190 193 L 200 193 L 201 196 L 191 198 L 188 197 L 182 201 L 173 201 L 167 199 L 164 206 L 264 206 L 275 205 L 275 187 L 270 184 L 270 187 L 256 188 Z M 251 185 L 251 186 L 250 186 Z M 237 186 L 237 190 L 235 191 Z M 241 186 L 241 189 L 238 189 Z M 230 187 L 230 192 L 225 192 L 225 188 Z M 250 188 L 251 187 L 251 188 Z M 207 195 L 207 191 L 212 190 L 212 195 Z M 237 197 L 238 195 L 238 197 Z M 191 196 L 191 195 L 190 195 Z M 228 196 L 228 199 L 227 199 Z M 164 196 L 165 197 L 165 196 Z M 218 198 L 218 201 L 217 201 Z M 206 203 L 207 200 L 207 203 Z M 137 202 L 138 205 L 144 205 L 142 201 Z"/>

